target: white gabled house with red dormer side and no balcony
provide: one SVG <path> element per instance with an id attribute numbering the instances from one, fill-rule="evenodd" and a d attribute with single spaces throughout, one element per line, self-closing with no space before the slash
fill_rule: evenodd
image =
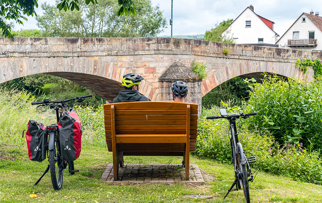
<path id="1" fill-rule="evenodd" d="M 254 12 L 254 7 L 247 7 L 223 35 L 235 39 L 236 44 L 250 44 L 257 46 L 274 46 L 279 36 L 273 31 L 275 23 Z"/>

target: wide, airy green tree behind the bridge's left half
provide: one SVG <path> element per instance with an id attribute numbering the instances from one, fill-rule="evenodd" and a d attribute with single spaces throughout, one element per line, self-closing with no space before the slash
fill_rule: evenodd
<path id="1" fill-rule="evenodd" d="M 56 1 L 58 3 L 58 1 Z M 58 11 L 55 6 L 42 4 L 44 15 L 37 16 L 37 25 L 49 37 L 150 37 L 166 27 L 166 19 L 151 0 L 137 0 L 134 15 L 117 17 L 115 0 L 98 0 L 86 5 L 80 0 L 79 11 Z"/>

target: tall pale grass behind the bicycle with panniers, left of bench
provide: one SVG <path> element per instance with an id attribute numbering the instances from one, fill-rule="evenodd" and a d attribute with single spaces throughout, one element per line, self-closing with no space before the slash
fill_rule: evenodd
<path id="1" fill-rule="evenodd" d="M 20 146 L 26 144 L 22 132 L 27 129 L 29 120 L 45 126 L 57 122 L 54 110 L 48 106 L 31 105 L 34 101 L 35 96 L 26 90 L 0 88 L 0 142 Z M 98 108 L 76 106 L 75 110 L 83 129 L 82 144 L 106 147 L 103 105 Z"/>

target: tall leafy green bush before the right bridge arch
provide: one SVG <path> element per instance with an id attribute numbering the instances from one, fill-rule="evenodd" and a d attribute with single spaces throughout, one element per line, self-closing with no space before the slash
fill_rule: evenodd
<path id="1" fill-rule="evenodd" d="M 322 147 L 322 83 L 277 76 L 264 76 L 262 84 L 251 84 L 247 112 L 258 116 L 246 120 L 253 130 L 268 130 L 279 144 L 303 143 L 308 149 Z"/>

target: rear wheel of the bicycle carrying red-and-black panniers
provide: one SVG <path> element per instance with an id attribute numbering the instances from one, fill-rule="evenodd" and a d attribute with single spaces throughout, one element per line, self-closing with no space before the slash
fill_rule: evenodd
<path id="1" fill-rule="evenodd" d="M 62 158 L 56 153 L 56 150 L 49 150 L 49 168 L 52 178 L 52 187 L 54 190 L 62 188 L 63 167 Z"/>

